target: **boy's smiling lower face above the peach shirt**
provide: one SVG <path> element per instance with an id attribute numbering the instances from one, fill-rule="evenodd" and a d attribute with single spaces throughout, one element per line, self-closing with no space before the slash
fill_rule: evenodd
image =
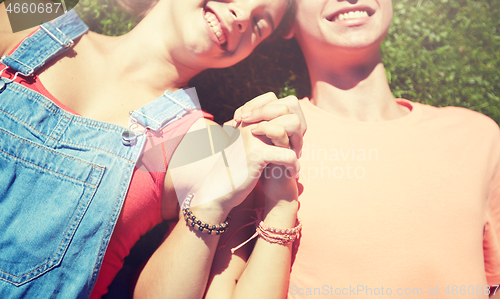
<path id="1" fill-rule="evenodd" d="M 294 33 L 309 53 L 378 51 L 391 19 L 391 0 L 297 0 Z"/>

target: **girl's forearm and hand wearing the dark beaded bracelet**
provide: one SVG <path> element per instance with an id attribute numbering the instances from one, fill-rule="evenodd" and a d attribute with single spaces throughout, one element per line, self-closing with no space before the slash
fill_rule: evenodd
<path id="1" fill-rule="evenodd" d="M 216 224 L 224 221 L 231 208 L 240 204 L 253 189 L 268 163 L 285 165 L 293 173 L 297 171 L 296 156 L 291 150 L 262 142 L 252 134 L 253 128 L 255 125 L 242 128 L 241 140 L 224 150 L 226 157 L 223 158 L 221 153 L 215 155 L 220 157 L 209 175 L 201 186 L 195 187 L 195 200 L 203 203 L 191 210 L 204 222 Z M 265 151 L 274 154 L 266 159 Z M 258 158 L 250 158 L 256 153 Z M 225 161 L 229 163 L 228 167 Z M 228 179 L 228 168 L 233 182 Z M 193 231 L 181 218 L 141 272 L 134 297 L 201 298 L 218 241 L 219 236 Z"/>

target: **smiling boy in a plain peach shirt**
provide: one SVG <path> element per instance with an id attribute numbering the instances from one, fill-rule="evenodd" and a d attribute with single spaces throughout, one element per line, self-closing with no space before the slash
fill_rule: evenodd
<path id="1" fill-rule="evenodd" d="M 312 93 L 288 298 L 488 298 L 500 284 L 498 125 L 395 99 L 391 19 L 390 0 L 297 0 Z"/>

